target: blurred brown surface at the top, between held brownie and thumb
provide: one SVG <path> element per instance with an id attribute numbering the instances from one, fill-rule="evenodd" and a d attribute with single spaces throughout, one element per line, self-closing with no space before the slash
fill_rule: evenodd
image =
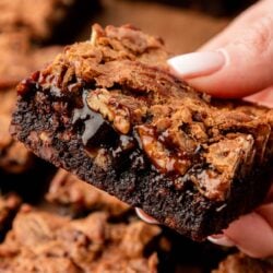
<path id="1" fill-rule="evenodd" d="M 195 50 L 253 0 L 102 0 L 102 24 L 131 23 L 164 38 L 171 52 Z M 85 33 L 83 34 L 83 37 Z"/>

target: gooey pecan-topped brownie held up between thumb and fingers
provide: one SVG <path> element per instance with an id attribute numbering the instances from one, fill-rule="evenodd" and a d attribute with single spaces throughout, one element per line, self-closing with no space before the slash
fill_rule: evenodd
<path id="1" fill-rule="evenodd" d="M 11 131 L 38 156 L 192 239 L 264 198 L 273 110 L 213 100 L 167 70 L 162 39 L 93 27 L 17 86 Z"/>

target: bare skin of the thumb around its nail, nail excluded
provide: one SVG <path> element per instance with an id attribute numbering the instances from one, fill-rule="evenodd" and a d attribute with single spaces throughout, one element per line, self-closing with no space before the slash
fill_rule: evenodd
<path id="1" fill-rule="evenodd" d="M 244 97 L 264 90 L 272 93 L 272 0 L 260 1 L 245 11 L 199 50 L 221 50 L 228 59 L 227 63 L 206 76 L 186 80 L 198 90 L 217 97 Z M 260 102 L 259 96 L 256 98 Z"/>

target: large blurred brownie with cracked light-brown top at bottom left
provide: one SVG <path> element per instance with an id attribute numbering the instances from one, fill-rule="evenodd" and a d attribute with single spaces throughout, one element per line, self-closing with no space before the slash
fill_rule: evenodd
<path id="1" fill-rule="evenodd" d="M 0 245 L 0 271 L 156 273 L 157 253 L 147 247 L 159 234 L 141 221 L 108 223 L 106 212 L 70 219 L 23 206 Z"/>

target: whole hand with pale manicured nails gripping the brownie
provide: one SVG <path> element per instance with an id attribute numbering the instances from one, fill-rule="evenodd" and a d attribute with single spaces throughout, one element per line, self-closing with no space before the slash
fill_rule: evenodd
<path id="1" fill-rule="evenodd" d="M 263 0 L 238 16 L 198 52 L 168 62 L 175 74 L 197 90 L 217 97 L 245 97 L 273 107 L 273 0 Z M 247 96 L 247 97 L 246 97 Z M 144 221 L 155 219 L 136 209 Z M 266 204 L 209 237 L 237 246 L 254 258 L 273 256 L 273 187 Z"/>

